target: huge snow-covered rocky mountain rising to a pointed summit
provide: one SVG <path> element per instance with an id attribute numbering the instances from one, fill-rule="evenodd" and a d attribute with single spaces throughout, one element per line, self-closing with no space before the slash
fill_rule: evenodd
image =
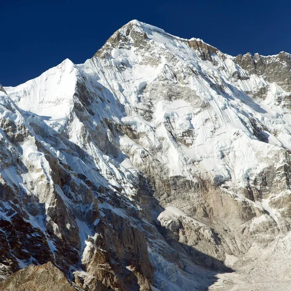
<path id="1" fill-rule="evenodd" d="M 0 155 L 0 290 L 48 261 L 77 290 L 291 290 L 288 53 L 130 21 L 0 87 Z"/>

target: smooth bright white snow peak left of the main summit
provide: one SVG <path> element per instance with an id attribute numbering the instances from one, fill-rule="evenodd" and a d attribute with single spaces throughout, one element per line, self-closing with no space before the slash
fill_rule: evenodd
<path id="1" fill-rule="evenodd" d="M 6 91 L 23 110 L 60 121 L 73 105 L 76 75 L 75 65 L 66 59 L 39 77 L 15 88 L 7 87 Z"/>

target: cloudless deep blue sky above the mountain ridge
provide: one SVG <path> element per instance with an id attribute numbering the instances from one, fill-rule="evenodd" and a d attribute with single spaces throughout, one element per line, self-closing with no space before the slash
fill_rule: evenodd
<path id="1" fill-rule="evenodd" d="M 131 19 L 231 55 L 291 52 L 291 0 L 0 0 L 0 83 L 93 56 Z"/>

